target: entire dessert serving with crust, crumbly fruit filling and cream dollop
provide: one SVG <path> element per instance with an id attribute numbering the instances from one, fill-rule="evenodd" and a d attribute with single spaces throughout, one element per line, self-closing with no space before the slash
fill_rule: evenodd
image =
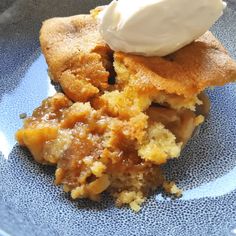
<path id="1" fill-rule="evenodd" d="M 236 63 L 207 31 L 221 0 L 128 2 L 43 23 L 41 48 L 62 92 L 24 120 L 16 139 L 56 166 L 55 183 L 73 199 L 107 191 L 138 211 L 159 187 L 181 195 L 161 166 L 204 122 L 204 90 L 236 80 Z"/>

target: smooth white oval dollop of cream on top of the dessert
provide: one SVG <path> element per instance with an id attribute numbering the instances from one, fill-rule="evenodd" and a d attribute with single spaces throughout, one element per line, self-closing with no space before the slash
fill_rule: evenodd
<path id="1" fill-rule="evenodd" d="M 100 33 L 114 51 L 166 56 L 204 34 L 223 14 L 222 0 L 114 0 Z"/>

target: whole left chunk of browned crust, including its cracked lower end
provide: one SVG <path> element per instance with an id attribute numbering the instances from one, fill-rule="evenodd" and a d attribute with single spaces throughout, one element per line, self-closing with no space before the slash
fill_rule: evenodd
<path id="1" fill-rule="evenodd" d="M 79 15 L 49 19 L 40 31 L 51 78 L 73 101 L 87 101 L 108 86 L 112 55 L 97 28 L 92 16 Z"/>

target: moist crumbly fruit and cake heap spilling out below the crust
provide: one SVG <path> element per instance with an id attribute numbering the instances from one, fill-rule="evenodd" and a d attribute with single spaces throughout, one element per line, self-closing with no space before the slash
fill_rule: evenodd
<path id="1" fill-rule="evenodd" d="M 151 107 L 121 120 L 104 111 L 58 93 L 25 119 L 16 138 L 36 161 L 57 166 L 55 183 L 73 199 L 98 200 L 108 190 L 117 205 L 139 210 L 148 193 L 165 183 L 159 166 L 180 155 L 189 137 L 178 133 L 190 127 L 191 136 L 197 116 Z"/>

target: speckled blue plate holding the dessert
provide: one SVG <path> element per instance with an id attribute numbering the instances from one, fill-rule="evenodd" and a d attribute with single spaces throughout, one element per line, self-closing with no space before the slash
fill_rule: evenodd
<path id="1" fill-rule="evenodd" d="M 207 122 L 166 167 L 183 197 L 153 195 L 138 214 L 115 208 L 107 196 L 101 204 L 71 201 L 54 186 L 54 169 L 16 145 L 19 114 L 54 93 L 38 42 L 42 20 L 107 2 L 0 0 L 0 235 L 236 235 L 236 85 L 208 91 Z M 212 30 L 235 58 L 235 1 Z"/>

